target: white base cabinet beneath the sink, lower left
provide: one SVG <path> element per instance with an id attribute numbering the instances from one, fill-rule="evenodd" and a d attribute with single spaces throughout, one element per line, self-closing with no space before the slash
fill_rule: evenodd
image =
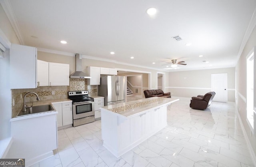
<path id="1" fill-rule="evenodd" d="M 52 157 L 57 149 L 57 112 L 10 119 L 13 143 L 6 158 L 22 157 L 26 167 Z"/>

